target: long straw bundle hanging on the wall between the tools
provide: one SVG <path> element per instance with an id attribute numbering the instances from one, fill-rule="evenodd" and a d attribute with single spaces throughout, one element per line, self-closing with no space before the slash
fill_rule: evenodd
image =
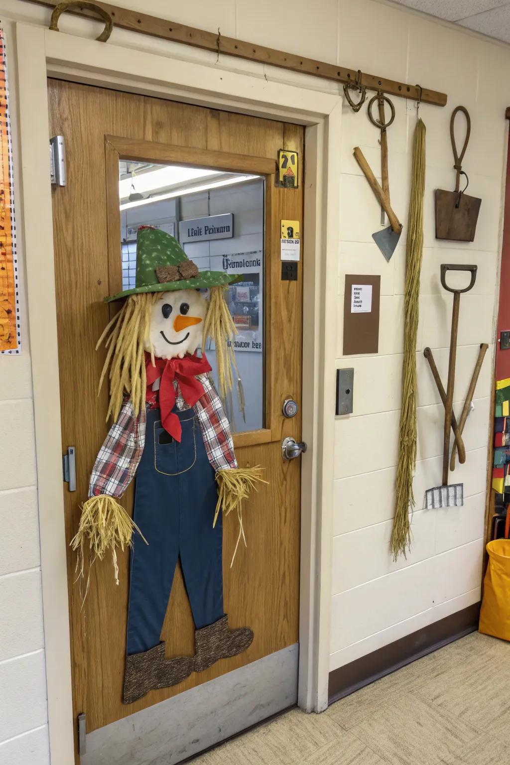
<path id="1" fill-rule="evenodd" d="M 409 509 L 414 507 L 413 477 L 416 469 L 416 338 L 419 317 L 421 256 L 424 243 L 423 207 L 425 190 L 425 125 L 414 129 L 413 165 L 407 256 L 405 266 L 404 361 L 402 365 L 402 408 L 398 444 L 395 520 L 391 532 L 394 560 L 411 548 Z"/>

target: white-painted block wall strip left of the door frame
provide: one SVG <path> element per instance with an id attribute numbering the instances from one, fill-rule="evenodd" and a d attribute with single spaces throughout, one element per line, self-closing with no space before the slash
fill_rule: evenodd
<path id="1" fill-rule="evenodd" d="M 12 24 L 0 18 L 7 37 L 18 181 L 15 41 Z M 18 181 L 18 199 L 19 192 Z M 19 205 L 16 212 L 19 223 Z M 48 765 L 34 407 L 19 236 L 18 255 L 22 350 L 18 356 L 0 356 L 0 765 Z"/>

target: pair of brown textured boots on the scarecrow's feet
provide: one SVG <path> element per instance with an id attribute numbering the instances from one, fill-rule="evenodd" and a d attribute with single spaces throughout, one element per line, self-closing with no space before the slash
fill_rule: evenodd
<path id="1" fill-rule="evenodd" d="M 132 704 L 155 688 L 177 685 L 191 672 L 203 672 L 218 659 L 228 659 L 245 651 L 253 640 L 249 627 L 229 630 L 225 615 L 217 622 L 195 630 L 195 656 L 177 656 L 165 659 L 164 643 L 144 651 L 132 653 L 125 659 L 124 703 Z"/>

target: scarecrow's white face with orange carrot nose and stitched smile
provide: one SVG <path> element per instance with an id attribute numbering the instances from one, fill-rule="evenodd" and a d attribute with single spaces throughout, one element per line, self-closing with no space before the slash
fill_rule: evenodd
<path id="1" fill-rule="evenodd" d="M 149 337 L 154 356 L 182 359 L 185 353 L 194 353 L 202 340 L 206 311 L 206 300 L 195 289 L 164 292 L 151 314 Z M 145 350 L 150 350 L 147 341 Z"/>

